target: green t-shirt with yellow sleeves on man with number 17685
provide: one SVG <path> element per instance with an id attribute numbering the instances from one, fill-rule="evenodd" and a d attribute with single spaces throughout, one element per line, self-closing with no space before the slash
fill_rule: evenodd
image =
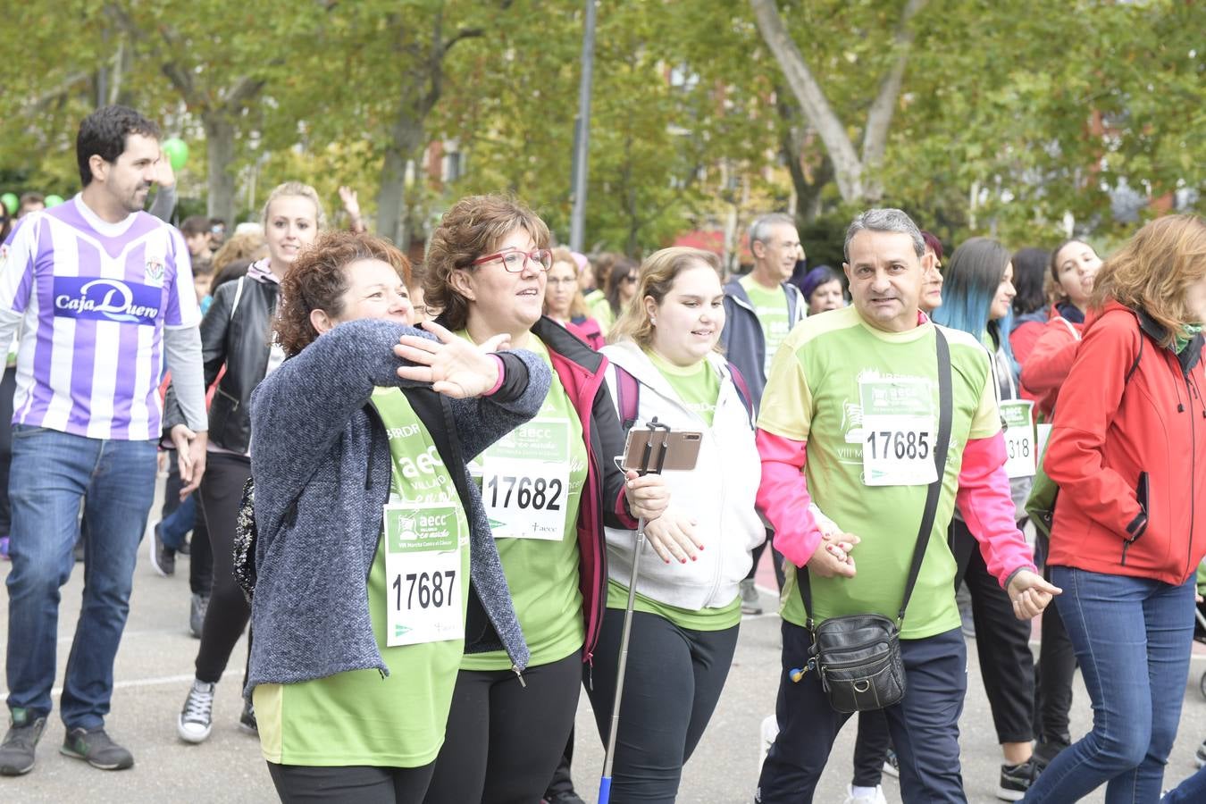
<path id="1" fill-rule="evenodd" d="M 964 446 L 971 439 L 990 438 L 1001 429 L 984 347 L 962 331 L 944 328 L 943 334 L 950 345 L 952 363 L 950 448 L 933 529 L 904 617 L 901 635 L 906 639 L 933 636 L 959 627 L 955 559 L 947 545 L 947 526 L 955 506 Z M 762 395 L 759 427 L 808 442 L 804 466 L 808 493 L 838 527 L 862 539 L 853 553 L 855 577 L 810 579 L 816 620 L 853 614 L 896 617 L 925 507 L 926 486 L 863 483 L 863 445 L 882 445 L 877 439 L 883 435 L 878 422 L 863 428 L 865 405 L 868 392 L 927 391 L 909 398 L 909 403 L 923 403 L 929 409 L 932 448 L 937 377 L 933 324 L 885 333 L 865 323 L 853 306 L 806 318 L 784 341 L 774 360 Z M 900 407 L 900 412 L 906 412 L 903 405 Z M 878 410 L 883 413 L 883 407 Z M 904 451 L 906 439 L 894 440 L 894 447 L 897 441 Z M 932 475 L 932 462 L 929 466 Z M 807 618 L 796 591 L 795 568 L 789 562 L 786 569 L 781 614 L 784 620 L 803 626 Z"/>

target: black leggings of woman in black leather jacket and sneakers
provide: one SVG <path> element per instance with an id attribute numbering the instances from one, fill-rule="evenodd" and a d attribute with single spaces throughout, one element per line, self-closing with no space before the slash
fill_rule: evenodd
<path id="1" fill-rule="evenodd" d="M 242 486 L 251 477 L 251 460 L 242 456 L 211 452 L 206 464 L 201 487 L 197 492 L 212 547 L 213 587 L 201 627 L 201 646 L 197 651 L 197 680 L 216 683 L 222 680 L 230 651 L 251 616 L 247 599 L 234 580 L 233 557 L 235 518 Z M 251 656 L 250 650 L 247 655 Z"/>

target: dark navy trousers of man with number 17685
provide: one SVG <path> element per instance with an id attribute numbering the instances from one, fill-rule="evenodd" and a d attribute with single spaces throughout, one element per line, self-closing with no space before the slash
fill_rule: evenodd
<path id="1" fill-rule="evenodd" d="M 812 802 L 833 740 L 850 717 L 836 711 L 808 671 L 798 682 L 812 638 L 806 628 L 783 622 L 783 673 L 774 714 L 779 736 L 766 755 L 754 800 L 759 804 Z M 967 649 L 959 629 L 925 639 L 902 639 L 904 699 L 883 710 L 901 769 L 906 802 L 965 803 L 959 765 L 959 715 L 967 692 Z"/>

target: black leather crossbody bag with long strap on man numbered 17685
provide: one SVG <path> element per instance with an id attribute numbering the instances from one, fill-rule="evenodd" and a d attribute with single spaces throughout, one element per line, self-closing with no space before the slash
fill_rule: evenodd
<path id="1" fill-rule="evenodd" d="M 913 586 L 921 561 L 930 542 L 930 530 L 942 493 L 942 475 L 947 469 L 947 450 L 950 445 L 950 350 L 942 330 L 935 327 L 938 351 L 938 438 L 933 451 L 933 463 L 938 477 L 930 483 L 925 495 L 925 512 L 913 547 L 913 563 L 904 583 L 896 622 L 883 615 L 848 615 L 830 617 L 821 624 L 813 622 L 813 595 L 808 582 L 808 568 L 798 573 L 800 594 L 808 615 L 806 628 L 813 636 L 808 653 L 808 669 L 821 676 L 821 687 L 829 696 L 830 705 L 839 712 L 859 712 L 884 709 L 900 703 L 904 697 L 904 663 L 901 659 L 900 629 L 904 622 Z"/>

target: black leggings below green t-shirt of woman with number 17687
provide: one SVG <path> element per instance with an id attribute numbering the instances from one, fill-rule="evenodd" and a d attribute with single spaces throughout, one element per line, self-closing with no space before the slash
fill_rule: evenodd
<path id="1" fill-rule="evenodd" d="M 434 763 L 421 768 L 375 765 L 279 765 L 268 763 L 276 794 L 286 804 L 420 804 L 432 780 Z"/>

